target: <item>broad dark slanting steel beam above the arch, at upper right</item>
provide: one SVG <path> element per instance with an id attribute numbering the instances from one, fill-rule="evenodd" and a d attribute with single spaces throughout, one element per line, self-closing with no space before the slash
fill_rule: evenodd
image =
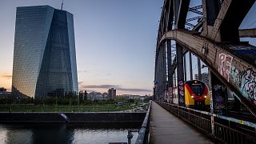
<path id="1" fill-rule="evenodd" d="M 211 2 L 211 0 L 206 0 Z M 215 42 L 239 42 L 238 27 L 254 5 L 255 0 L 225 0 L 219 10 L 208 38 Z M 209 13 L 209 10 L 207 10 Z M 209 27 L 208 27 L 209 28 Z"/>

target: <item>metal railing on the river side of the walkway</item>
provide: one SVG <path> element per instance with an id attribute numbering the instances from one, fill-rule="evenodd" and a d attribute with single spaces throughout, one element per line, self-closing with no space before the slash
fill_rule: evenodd
<path id="1" fill-rule="evenodd" d="M 151 110 L 151 101 L 146 112 L 146 116 L 142 123 L 142 128 L 139 130 L 138 138 L 136 139 L 136 144 L 149 143 L 148 138 L 150 134 L 150 110 Z"/>

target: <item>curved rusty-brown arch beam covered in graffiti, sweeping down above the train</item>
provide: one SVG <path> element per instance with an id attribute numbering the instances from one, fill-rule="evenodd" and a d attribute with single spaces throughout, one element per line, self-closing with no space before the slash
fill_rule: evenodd
<path id="1" fill-rule="evenodd" d="M 202 59 L 256 116 L 256 55 L 252 54 L 256 51 L 255 46 L 222 46 L 186 30 L 170 30 L 162 36 L 160 43 L 166 39 L 174 39 Z"/>

